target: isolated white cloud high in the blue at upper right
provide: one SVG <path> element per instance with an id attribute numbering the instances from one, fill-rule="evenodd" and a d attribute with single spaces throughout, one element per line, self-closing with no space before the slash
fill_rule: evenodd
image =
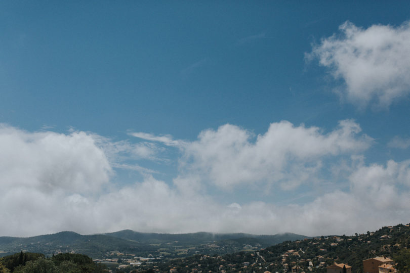
<path id="1" fill-rule="evenodd" d="M 373 25 L 367 29 L 346 22 L 340 32 L 321 40 L 307 58 L 317 57 L 336 79 L 341 91 L 361 106 L 388 107 L 410 93 L 410 23 Z"/>

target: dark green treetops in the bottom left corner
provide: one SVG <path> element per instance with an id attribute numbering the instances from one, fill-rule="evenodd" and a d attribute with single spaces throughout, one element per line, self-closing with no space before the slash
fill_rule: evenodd
<path id="1" fill-rule="evenodd" d="M 0 259 L 0 273 L 100 273 L 106 266 L 95 263 L 87 255 L 61 253 L 46 258 L 44 254 L 23 252 Z"/>

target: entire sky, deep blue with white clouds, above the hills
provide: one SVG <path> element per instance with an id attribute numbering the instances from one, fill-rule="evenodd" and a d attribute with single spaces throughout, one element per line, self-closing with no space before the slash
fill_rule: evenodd
<path id="1" fill-rule="evenodd" d="M 3 2 L 0 235 L 408 222 L 409 14 L 405 1 Z"/>

